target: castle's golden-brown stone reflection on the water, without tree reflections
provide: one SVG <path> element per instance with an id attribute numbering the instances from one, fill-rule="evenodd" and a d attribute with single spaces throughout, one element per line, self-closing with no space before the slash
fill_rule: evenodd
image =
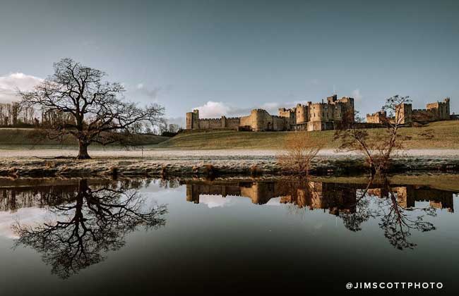
<path id="1" fill-rule="evenodd" d="M 396 197 L 399 206 L 414 207 L 416 202 L 429 202 L 435 209 L 454 211 L 455 192 L 433 189 L 422 185 L 381 185 L 343 184 L 308 181 L 302 185 L 282 183 L 282 181 L 188 181 L 186 200 L 199 203 L 200 195 L 221 195 L 222 197 L 249 197 L 254 204 L 266 204 L 270 199 L 280 197 L 283 204 L 295 204 L 299 208 L 323 209 L 333 215 L 354 213 L 361 192 L 366 195 L 388 198 L 389 192 Z"/>

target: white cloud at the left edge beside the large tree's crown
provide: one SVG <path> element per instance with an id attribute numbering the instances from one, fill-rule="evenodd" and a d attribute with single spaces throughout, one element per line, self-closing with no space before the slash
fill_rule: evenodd
<path id="1" fill-rule="evenodd" d="M 10 103 L 17 101 L 17 90 L 32 90 L 38 83 L 42 82 L 42 78 L 37 78 L 24 73 L 11 73 L 6 76 L 0 76 L 0 103 Z"/>

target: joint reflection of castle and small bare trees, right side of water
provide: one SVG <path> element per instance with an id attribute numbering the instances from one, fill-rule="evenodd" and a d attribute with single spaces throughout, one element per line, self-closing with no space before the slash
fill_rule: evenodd
<path id="1" fill-rule="evenodd" d="M 186 200 L 195 204 L 199 203 L 201 195 L 249 197 L 253 204 L 266 204 L 270 199 L 280 198 L 282 204 L 299 209 L 328 210 L 329 214 L 341 218 L 351 231 L 362 230 L 364 222 L 378 218 L 384 236 L 397 249 L 416 246 L 410 241 L 412 231 L 435 229 L 425 218 L 436 216 L 436 209 L 454 211 L 455 192 L 419 185 L 391 185 L 387 179 L 376 183 L 369 180 L 366 184 L 296 178 L 258 182 L 189 180 L 183 183 L 186 184 Z M 416 206 L 417 202 L 429 202 L 429 205 Z"/>

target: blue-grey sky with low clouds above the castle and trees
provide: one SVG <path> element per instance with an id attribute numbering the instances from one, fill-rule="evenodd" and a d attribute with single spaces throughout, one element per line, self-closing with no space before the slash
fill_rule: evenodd
<path id="1" fill-rule="evenodd" d="M 104 70 L 171 123 L 407 95 L 459 113 L 459 1 L 0 0 L 0 101 L 64 57 Z"/>

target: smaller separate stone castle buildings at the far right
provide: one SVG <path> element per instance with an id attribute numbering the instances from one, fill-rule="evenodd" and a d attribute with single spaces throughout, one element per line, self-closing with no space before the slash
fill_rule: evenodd
<path id="1" fill-rule="evenodd" d="M 447 97 L 443 101 L 429 103 L 426 109 L 412 109 L 412 104 L 401 104 L 398 106 L 398 118 L 395 121 L 401 124 L 409 124 L 413 122 L 431 122 L 431 121 L 448 121 L 451 119 L 451 111 L 449 106 L 450 98 Z M 384 123 L 387 121 L 385 111 L 378 111 L 373 114 L 366 114 L 367 123 Z"/>

